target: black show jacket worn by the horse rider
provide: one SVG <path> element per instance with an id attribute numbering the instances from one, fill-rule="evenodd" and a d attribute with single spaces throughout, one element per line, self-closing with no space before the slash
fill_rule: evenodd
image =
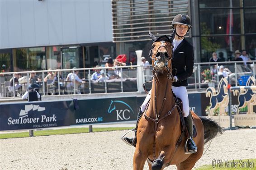
<path id="1" fill-rule="evenodd" d="M 172 85 L 175 87 L 188 86 L 187 78 L 193 74 L 194 67 L 193 46 L 184 38 L 173 53 L 172 74 L 173 76 L 177 76 L 178 81 L 173 82 Z"/>

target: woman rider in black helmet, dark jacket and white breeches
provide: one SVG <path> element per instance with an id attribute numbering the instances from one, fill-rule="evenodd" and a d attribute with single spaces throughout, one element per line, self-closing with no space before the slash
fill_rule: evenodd
<path id="1" fill-rule="evenodd" d="M 172 91 L 175 93 L 177 97 L 182 100 L 182 109 L 183 115 L 185 119 L 185 124 L 189 132 L 189 138 L 187 139 L 187 152 L 186 154 L 197 152 L 197 147 L 192 139 L 193 137 L 193 123 L 192 116 L 190 113 L 189 107 L 189 98 L 187 89 L 185 86 L 188 86 L 187 78 L 189 78 L 193 74 L 193 66 L 194 66 L 194 50 L 193 46 L 190 45 L 188 41 L 185 40 L 184 36 L 191 28 L 191 20 L 188 15 L 178 14 L 172 21 L 172 27 L 174 28 L 175 37 L 173 39 L 173 59 L 172 59 L 172 69 L 173 69 L 173 83 L 172 83 Z M 150 91 L 151 92 L 151 91 Z M 150 93 L 149 92 L 149 93 Z M 146 109 L 147 103 L 150 100 L 150 95 L 147 95 L 145 101 L 142 103 L 140 107 L 137 120 L 141 117 L 143 111 Z M 123 141 L 136 146 L 136 128 L 133 129 L 135 131 L 134 138 L 128 138 L 123 136 Z"/>

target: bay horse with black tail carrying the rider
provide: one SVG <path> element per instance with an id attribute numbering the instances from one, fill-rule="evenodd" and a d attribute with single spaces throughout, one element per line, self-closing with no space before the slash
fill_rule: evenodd
<path id="1" fill-rule="evenodd" d="M 203 154 L 204 143 L 222 133 L 222 129 L 212 119 L 199 118 L 191 111 L 197 133 L 194 142 L 198 150 L 185 154 L 186 137 L 182 133 L 178 106 L 171 92 L 173 39 L 149 34 L 153 40 L 149 54 L 153 66 L 152 92 L 149 105 L 138 122 L 133 169 L 143 170 L 147 160 L 150 170 L 163 170 L 169 165 L 176 165 L 178 170 L 191 170 Z"/>

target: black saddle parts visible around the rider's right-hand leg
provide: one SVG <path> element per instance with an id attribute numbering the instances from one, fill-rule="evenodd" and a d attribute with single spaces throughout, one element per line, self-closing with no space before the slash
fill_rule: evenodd
<path id="1" fill-rule="evenodd" d="M 179 111 L 179 114 L 180 114 L 180 121 L 181 121 L 181 126 L 182 126 L 181 133 L 185 132 L 186 137 L 189 138 L 189 132 L 188 132 L 188 129 L 185 125 L 185 120 L 184 120 L 183 111 L 182 111 L 182 101 L 181 101 L 180 98 L 175 96 L 174 92 L 172 92 L 172 94 L 174 96 L 175 104 L 177 104 L 177 108 L 178 108 L 178 111 Z M 192 116 L 192 120 L 193 120 L 193 138 L 195 138 L 197 133 L 196 133 L 195 125 L 194 125 L 193 116 Z"/>

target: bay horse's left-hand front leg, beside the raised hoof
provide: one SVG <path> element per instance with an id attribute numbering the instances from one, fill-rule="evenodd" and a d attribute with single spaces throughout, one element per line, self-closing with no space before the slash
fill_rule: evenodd
<path id="1" fill-rule="evenodd" d="M 146 160 L 147 154 L 136 147 L 133 155 L 133 170 L 143 170 Z"/>

